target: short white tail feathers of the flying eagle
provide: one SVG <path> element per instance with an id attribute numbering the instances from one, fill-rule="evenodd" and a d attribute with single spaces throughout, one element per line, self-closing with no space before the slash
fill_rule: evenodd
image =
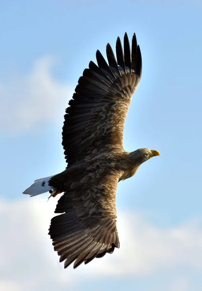
<path id="1" fill-rule="evenodd" d="M 34 183 L 23 192 L 23 194 L 29 194 L 31 197 L 33 197 L 53 190 L 54 188 L 48 185 L 48 181 L 54 176 L 55 175 L 35 180 Z"/>

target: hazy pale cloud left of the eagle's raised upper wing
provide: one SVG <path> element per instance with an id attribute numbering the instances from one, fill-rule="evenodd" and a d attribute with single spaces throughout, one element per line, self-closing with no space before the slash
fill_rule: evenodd
<path id="1" fill-rule="evenodd" d="M 29 75 L 0 84 L 0 129 L 30 129 L 41 121 L 63 117 L 73 88 L 54 80 L 51 57 L 38 59 Z M 64 105 L 65 104 L 65 105 Z"/>

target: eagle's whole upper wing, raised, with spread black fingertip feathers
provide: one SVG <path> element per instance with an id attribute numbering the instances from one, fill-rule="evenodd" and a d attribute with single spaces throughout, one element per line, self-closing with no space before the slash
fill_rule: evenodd
<path id="1" fill-rule="evenodd" d="M 124 52 L 118 37 L 116 55 L 117 61 L 108 44 L 108 65 L 97 50 L 98 66 L 90 62 L 78 80 L 62 130 L 68 166 L 91 153 L 95 155 L 113 146 L 123 148 L 125 117 L 141 77 L 141 53 L 135 34 L 132 54 L 125 33 Z"/>

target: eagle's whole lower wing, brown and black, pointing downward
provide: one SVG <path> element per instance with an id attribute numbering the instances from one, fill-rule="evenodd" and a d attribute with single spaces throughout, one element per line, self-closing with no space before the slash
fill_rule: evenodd
<path id="1" fill-rule="evenodd" d="M 75 260 L 76 268 L 83 261 L 101 258 L 119 247 L 115 208 L 119 178 L 120 172 L 96 170 L 95 163 L 91 170 L 76 175 L 66 185 L 55 210 L 65 213 L 53 217 L 49 229 L 60 261 L 65 260 L 65 268 Z"/>

